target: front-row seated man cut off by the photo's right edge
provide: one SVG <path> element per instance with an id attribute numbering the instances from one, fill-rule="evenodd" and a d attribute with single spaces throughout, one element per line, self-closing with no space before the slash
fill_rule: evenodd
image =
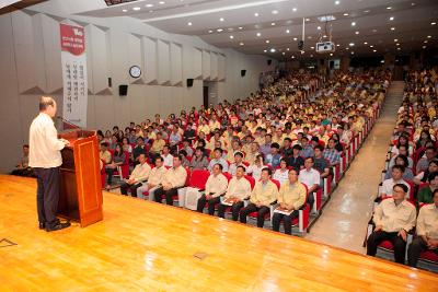
<path id="1" fill-rule="evenodd" d="M 407 248 L 407 264 L 416 267 L 425 250 L 438 254 L 438 189 L 434 190 L 434 202 L 423 206 L 417 218 L 416 234 Z"/>

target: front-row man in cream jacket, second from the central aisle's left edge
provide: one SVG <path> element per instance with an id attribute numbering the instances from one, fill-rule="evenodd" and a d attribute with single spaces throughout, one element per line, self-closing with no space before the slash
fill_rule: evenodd
<path id="1" fill-rule="evenodd" d="M 252 212 L 257 212 L 257 227 L 263 227 L 265 214 L 269 212 L 270 203 L 278 197 L 277 185 L 270 180 L 270 175 L 269 168 L 262 171 L 261 180 L 255 183 L 251 192 L 250 203 L 240 211 L 240 222 L 246 223 L 246 217 Z"/>

